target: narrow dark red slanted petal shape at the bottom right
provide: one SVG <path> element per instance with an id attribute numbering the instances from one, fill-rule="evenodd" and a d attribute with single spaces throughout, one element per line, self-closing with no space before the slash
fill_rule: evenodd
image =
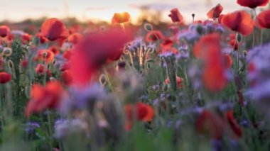
<path id="1" fill-rule="evenodd" d="M 226 118 L 227 118 L 227 121 L 229 123 L 229 126 L 234 131 L 234 134 L 237 135 L 237 138 L 241 138 L 242 137 L 242 130 L 234 118 L 233 111 L 227 111 Z"/>

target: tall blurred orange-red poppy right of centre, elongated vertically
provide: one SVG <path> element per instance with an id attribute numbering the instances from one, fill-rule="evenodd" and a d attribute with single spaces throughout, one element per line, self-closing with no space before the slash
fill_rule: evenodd
<path id="1" fill-rule="evenodd" d="M 227 84 L 226 66 L 222 57 L 220 35 L 217 33 L 205 35 L 194 48 L 195 57 L 204 62 L 202 82 L 209 91 L 220 91 Z"/>

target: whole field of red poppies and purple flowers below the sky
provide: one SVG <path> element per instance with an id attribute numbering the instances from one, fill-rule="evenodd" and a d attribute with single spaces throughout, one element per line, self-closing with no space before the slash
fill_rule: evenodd
<path id="1" fill-rule="evenodd" d="M 0 24 L 0 150 L 270 150 L 269 0 L 235 5 Z"/>

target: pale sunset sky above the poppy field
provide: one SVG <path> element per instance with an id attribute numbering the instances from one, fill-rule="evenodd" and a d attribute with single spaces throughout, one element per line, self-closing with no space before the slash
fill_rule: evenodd
<path id="1" fill-rule="evenodd" d="M 168 21 L 170 9 L 178 8 L 183 16 L 195 13 L 206 18 L 213 6 L 222 4 L 224 13 L 243 9 L 236 0 L 0 0 L 0 21 L 22 21 L 41 16 L 64 18 L 75 16 L 80 21 L 99 19 L 110 21 L 114 12 L 128 11 L 132 20 L 139 16 L 140 6 L 163 11 L 163 21 Z M 185 18 L 185 21 L 191 21 Z"/>

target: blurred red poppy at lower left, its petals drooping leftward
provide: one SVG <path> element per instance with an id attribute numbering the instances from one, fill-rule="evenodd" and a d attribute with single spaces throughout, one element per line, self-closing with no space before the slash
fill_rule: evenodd
<path id="1" fill-rule="evenodd" d="M 58 108 L 65 90 L 60 82 L 48 82 L 46 86 L 33 84 L 31 99 L 26 106 L 25 115 L 29 117 L 32 113 L 44 111 L 46 108 Z"/>

